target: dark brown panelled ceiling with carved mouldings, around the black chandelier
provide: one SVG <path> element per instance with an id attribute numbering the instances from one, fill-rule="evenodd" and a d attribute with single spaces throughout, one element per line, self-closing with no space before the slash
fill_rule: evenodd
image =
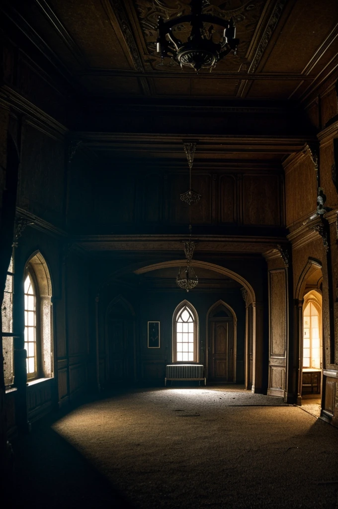
<path id="1" fill-rule="evenodd" d="M 301 100 L 336 66 L 336 0 L 206 0 L 207 11 L 234 17 L 240 44 L 199 75 L 155 52 L 157 18 L 188 13 L 189 0 L 13 0 L 5 9 L 85 97 Z M 188 26 L 177 30 L 184 38 Z"/>

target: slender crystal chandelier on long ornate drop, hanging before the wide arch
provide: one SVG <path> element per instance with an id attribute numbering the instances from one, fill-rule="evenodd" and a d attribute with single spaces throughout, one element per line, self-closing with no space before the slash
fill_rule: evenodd
<path id="1" fill-rule="evenodd" d="M 195 288 L 195 286 L 199 282 L 199 278 L 196 276 L 195 271 L 190 266 L 193 251 L 195 249 L 195 243 L 193 240 L 191 240 L 191 232 L 192 232 L 192 226 L 191 226 L 191 205 L 193 203 L 198 202 L 201 199 L 201 194 L 195 192 L 191 188 L 191 169 L 192 169 L 192 163 L 193 163 L 193 156 L 195 154 L 196 150 L 196 144 L 195 143 L 183 143 L 183 148 L 185 151 L 185 155 L 187 157 L 188 166 L 189 166 L 189 189 L 180 195 L 180 198 L 182 202 L 185 202 L 189 206 L 189 240 L 183 240 L 184 244 L 184 254 L 187 262 L 187 266 L 182 273 L 181 267 L 178 271 L 178 275 L 176 277 L 177 285 L 182 288 L 183 290 L 186 290 L 189 292 L 189 290 L 192 290 Z"/>

